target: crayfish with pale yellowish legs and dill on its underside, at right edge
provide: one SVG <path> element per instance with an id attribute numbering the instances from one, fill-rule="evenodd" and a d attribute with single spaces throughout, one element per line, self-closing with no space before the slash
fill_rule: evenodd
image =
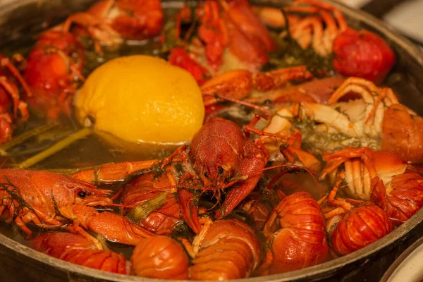
<path id="1" fill-rule="evenodd" d="M 418 149 L 423 140 L 421 123 L 422 117 L 399 104 L 390 88 L 348 78 L 331 94 L 327 105 L 300 102 L 283 106 L 263 131 L 287 139 L 300 130 L 302 142 L 307 140 L 314 154 L 370 147 L 418 163 L 422 161 Z"/>

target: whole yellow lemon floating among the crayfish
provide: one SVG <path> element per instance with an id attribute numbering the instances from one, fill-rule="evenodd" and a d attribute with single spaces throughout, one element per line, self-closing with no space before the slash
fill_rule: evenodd
<path id="1" fill-rule="evenodd" d="M 152 56 L 97 68 L 75 98 L 78 120 L 130 142 L 186 142 L 202 126 L 204 104 L 188 71 Z"/>

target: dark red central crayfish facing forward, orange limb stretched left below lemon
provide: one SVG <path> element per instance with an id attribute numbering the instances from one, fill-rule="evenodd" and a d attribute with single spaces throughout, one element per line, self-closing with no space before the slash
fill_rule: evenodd
<path id="1" fill-rule="evenodd" d="M 186 167 L 185 173 L 176 175 L 178 202 L 184 221 L 196 233 L 200 232 L 200 222 L 192 190 L 212 190 L 220 200 L 221 190 L 231 188 L 215 216 L 221 219 L 255 188 L 267 162 L 266 149 L 259 142 L 248 140 L 238 125 L 223 118 L 213 118 L 204 124 L 191 144 L 180 147 L 164 161 L 162 167 L 175 159 L 183 160 Z M 88 181 L 102 180 L 98 176 L 120 180 L 130 173 L 152 168 L 154 164 L 157 161 L 116 164 L 100 168 L 97 177 L 92 170 L 82 171 L 74 177 Z"/>

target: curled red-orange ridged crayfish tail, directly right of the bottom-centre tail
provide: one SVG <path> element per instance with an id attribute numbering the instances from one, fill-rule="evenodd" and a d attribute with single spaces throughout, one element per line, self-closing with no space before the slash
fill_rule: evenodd
<path id="1" fill-rule="evenodd" d="M 324 217 L 307 192 L 295 192 L 275 207 L 264 226 L 266 259 L 259 273 L 278 274 L 326 262 L 329 244 Z"/>

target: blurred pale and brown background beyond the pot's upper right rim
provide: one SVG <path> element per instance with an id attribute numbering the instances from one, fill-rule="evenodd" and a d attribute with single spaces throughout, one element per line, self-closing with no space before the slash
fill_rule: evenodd
<path id="1" fill-rule="evenodd" d="M 423 45 L 423 0 L 338 0 L 367 11 Z"/>

